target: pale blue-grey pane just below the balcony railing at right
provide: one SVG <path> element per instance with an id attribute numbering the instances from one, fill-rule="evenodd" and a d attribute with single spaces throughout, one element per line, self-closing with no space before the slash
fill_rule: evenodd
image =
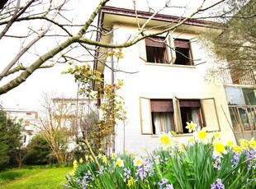
<path id="1" fill-rule="evenodd" d="M 239 87 L 225 87 L 225 93 L 230 105 L 244 105 L 244 97 Z"/>

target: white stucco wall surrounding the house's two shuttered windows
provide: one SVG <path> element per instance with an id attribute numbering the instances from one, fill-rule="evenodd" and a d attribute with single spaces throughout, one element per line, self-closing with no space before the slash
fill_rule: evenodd
<path id="1" fill-rule="evenodd" d="M 114 43 L 126 40 L 135 28 L 131 26 L 118 26 L 115 30 Z M 180 35 L 173 33 L 173 37 L 194 39 L 195 34 Z M 115 67 L 121 71 L 115 73 L 115 81 L 124 81 L 119 95 L 124 97 L 127 107 L 127 124 L 124 137 L 122 122 L 116 127 L 116 152 L 127 150 L 129 152 L 140 153 L 143 148 L 152 150 L 159 146 L 159 136 L 141 135 L 140 129 L 140 97 L 149 99 L 172 99 L 173 95 L 179 99 L 206 99 L 214 98 L 216 101 L 217 116 L 220 121 L 220 135 L 224 141 L 234 141 L 235 137 L 230 128 L 230 117 L 225 99 L 223 85 L 218 82 L 204 81 L 206 68 L 209 65 L 204 56 L 204 51 L 197 43 L 192 43 L 192 57 L 198 66 L 177 66 L 166 64 L 147 63 L 140 58 L 140 44 L 135 44 L 130 48 L 122 49 L 124 58 L 115 63 Z M 108 62 L 110 59 L 107 60 Z M 132 73 L 125 73 L 132 72 Z M 105 81 L 111 82 L 111 71 L 105 68 Z M 209 133 L 212 135 L 212 133 Z M 191 134 L 175 136 L 178 141 L 187 141 Z M 125 138 L 125 140 L 124 140 Z M 125 141 L 125 149 L 123 148 Z"/>

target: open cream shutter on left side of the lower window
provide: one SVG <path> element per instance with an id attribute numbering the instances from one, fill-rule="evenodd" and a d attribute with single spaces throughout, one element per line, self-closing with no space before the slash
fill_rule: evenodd
<path id="1" fill-rule="evenodd" d="M 151 135 L 152 122 L 151 122 L 151 108 L 150 99 L 140 97 L 140 127 L 141 134 Z"/>

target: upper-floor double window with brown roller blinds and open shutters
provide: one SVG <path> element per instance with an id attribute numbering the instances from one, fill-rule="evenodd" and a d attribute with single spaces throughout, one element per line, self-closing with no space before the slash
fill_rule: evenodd
<path id="1" fill-rule="evenodd" d="M 141 41 L 140 58 L 151 63 L 193 65 L 190 41 L 173 39 L 172 35 L 166 39 L 155 37 Z"/>

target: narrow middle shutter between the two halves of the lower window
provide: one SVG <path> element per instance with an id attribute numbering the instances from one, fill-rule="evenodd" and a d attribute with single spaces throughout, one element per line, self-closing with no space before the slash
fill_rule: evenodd
<path id="1" fill-rule="evenodd" d="M 173 109 L 174 109 L 174 124 L 175 131 L 178 133 L 183 133 L 183 122 L 181 116 L 181 109 L 179 107 L 179 99 L 173 96 Z"/>

